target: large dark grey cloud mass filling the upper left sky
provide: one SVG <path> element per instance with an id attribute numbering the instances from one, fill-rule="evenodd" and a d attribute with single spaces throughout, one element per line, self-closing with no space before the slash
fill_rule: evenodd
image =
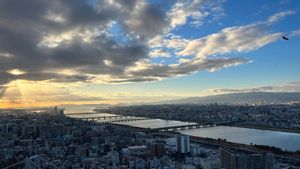
<path id="1" fill-rule="evenodd" d="M 73 82 L 88 80 L 86 74 L 123 75 L 127 67 L 147 57 L 144 39 L 161 33 L 166 25 L 164 13 L 145 1 L 87 2 L 1 1 L 0 54 L 11 57 L 0 56 L 0 83 L 15 79 Z M 109 35 L 113 21 L 124 34 L 132 35 L 131 40 L 124 44 Z M 83 40 L 86 36 L 91 37 Z M 6 73 L 11 69 L 26 74 Z M 62 75 L 57 72 L 60 69 L 76 70 L 80 75 Z"/>

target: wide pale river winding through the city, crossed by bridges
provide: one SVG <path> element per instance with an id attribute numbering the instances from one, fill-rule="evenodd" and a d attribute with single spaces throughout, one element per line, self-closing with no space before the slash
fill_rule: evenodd
<path id="1" fill-rule="evenodd" d="M 68 113 L 73 113 L 70 111 Z M 111 116 L 113 114 L 97 114 L 91 116 Z M 84 115 L 88 117 L 89 115 Z M 79 117 L 79 116 L 73 116 Z M 82 117 L 82 115 L 81 115 Z M 121 122 L 120 124 L 125 124 L 135 127 L 143 128 L 160 128 L 160 127 L 170 127 L 177 125 L 192 124 L 182 121 L 174 120 L 162 120 L 162 119 L 151 119 L 151 120 L 138 120 L 130 122 Z M 228 126 L 217 126 L 210 128 L 198 128 L 180 131 L 183 134 L 207 138 L 222 138 L 230 142 L 242 143 L 242 144 L 257 144 L 257 145 L 268 145 L 279 147 L 283 150 L 296 151 L 300 150 L 300 134 L 287 133 L 280 131 L 270 131 L 270 130 L 259 130 L 259 129 L 248 129 L 240 127 L 228 127 Z"/>

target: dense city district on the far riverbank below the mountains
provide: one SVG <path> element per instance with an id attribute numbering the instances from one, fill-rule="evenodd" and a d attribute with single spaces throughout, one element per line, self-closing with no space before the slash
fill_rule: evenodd
<path id="1" fill-rule="evenodd" d="M 183 104 L 119 106 L 98 109 L 121 115 L 134 115 L 199 124 L 227 124 L 265 127 L 300 132 L 300 104 L 226 105 Z"/>

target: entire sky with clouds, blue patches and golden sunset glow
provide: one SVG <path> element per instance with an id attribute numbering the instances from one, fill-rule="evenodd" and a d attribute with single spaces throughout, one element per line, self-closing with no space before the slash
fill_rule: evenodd
<path id="1" fill-rule="evenodd" d="M 299 8 L 298 0 L 1 0 L 0 108 L 300 92 Z"/>

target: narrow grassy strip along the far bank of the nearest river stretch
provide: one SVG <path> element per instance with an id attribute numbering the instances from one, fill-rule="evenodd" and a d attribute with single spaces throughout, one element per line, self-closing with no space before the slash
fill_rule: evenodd
<path id="1" fill-rule="evenodd" d="M 299 129 L 267 127 L 267 126 L 258 126 L 258 125 L 250 125 L 250 124 L 231 124 L 231 125 L 228 125 L 228 126 L 248 128 L 248 129 L 258 129 L 258 130 L 281 131 L 281 132 L 297 133 L 297 134 L 300 133 Z"/>

